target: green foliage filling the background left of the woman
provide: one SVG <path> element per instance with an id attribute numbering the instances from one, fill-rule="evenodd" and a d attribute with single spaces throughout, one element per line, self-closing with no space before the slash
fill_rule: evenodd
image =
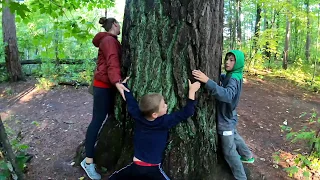
<path id="1" fill-rule="evenodd" d="M 4 3 L 4 1 L 1 1 Z M 16 13 L 17 40 L 21 60 L 40 59 L 41 65 L 23 65 L 23 72 L 38 77 L 39 86 L 49 89 L 59 82 L 88 83 L 92 78 L 97 48 L 92 38 L 99 32 L 98 20 L 104 11 L 115 5 L 114 0 L 9 0 Z M 102 13 L 103 12 L 103 13 Z M 2 37 L 0 37 L 1 39 Z M 2 39 L 1 41 L 2 42 Z M 3 43 L 0 43 L 4 47 Z M 56 59 L 88 59 L 78 65 L 56 65 Z M 0 63 L 4 63 L 3 51 Z M 8 74 L 0 68 L 0 82 Z"/>

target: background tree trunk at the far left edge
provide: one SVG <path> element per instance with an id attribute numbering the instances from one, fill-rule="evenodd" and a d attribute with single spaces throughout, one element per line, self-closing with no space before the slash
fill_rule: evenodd
<path id="1" fill-rule="evenodd" d="M 2 11 L 3 42 L 5 44 L 6 68 L 10 81 L 23 80 L 16 37 L 15 15 L 8 7 Z"/>

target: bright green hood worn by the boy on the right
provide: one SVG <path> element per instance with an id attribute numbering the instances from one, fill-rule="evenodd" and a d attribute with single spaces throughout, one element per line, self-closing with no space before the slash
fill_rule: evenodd
<path id="1" fill-rule="evenodd" d="M 232 71 L 227 71 L 227 77 L 232 77 L 237 80 L 242 80 L 243 78 L 243 67 L 244 67 L 244 54 L 240 50 L 230 50 L 228 54 L 233 54 L 236 57 L 236 62 Z M 226 58 L 227 58 L 226 55 Z M 226 60 L 226 59 L 225 59 Z"/>

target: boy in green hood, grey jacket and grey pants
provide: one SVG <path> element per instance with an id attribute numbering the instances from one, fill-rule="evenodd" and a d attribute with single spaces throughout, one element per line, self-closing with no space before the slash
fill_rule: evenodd
<path id="1" fill-rule="evenodd" d="M 199 70 L 193 70 L 194 78 L 206 84 L 210 94 L 218 101 L 218 134 L 221 138 L 224 158 L 229 164 L 233 176 L 237 180 L 246 180 L 243 164 L 253 163 L 251 151 L 237 132 L 236 125 L 238 105 L 243 84 L 244 54 L 239 50 L 231 50 L 225 57 L 225 70 L 227 74 L 220 76 L 221 86 L 208 78 Z"/>

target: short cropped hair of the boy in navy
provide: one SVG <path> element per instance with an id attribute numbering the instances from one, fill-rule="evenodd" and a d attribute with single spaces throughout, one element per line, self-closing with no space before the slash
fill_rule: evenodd
<path id="1" fill-rule="evenodd" d="M 139 101 L 139 109 L 144 116 L 151 116 L 159 111 L 160 102 L 163 96 L 159 93 L 150 93 L 142 96 Z"/>

